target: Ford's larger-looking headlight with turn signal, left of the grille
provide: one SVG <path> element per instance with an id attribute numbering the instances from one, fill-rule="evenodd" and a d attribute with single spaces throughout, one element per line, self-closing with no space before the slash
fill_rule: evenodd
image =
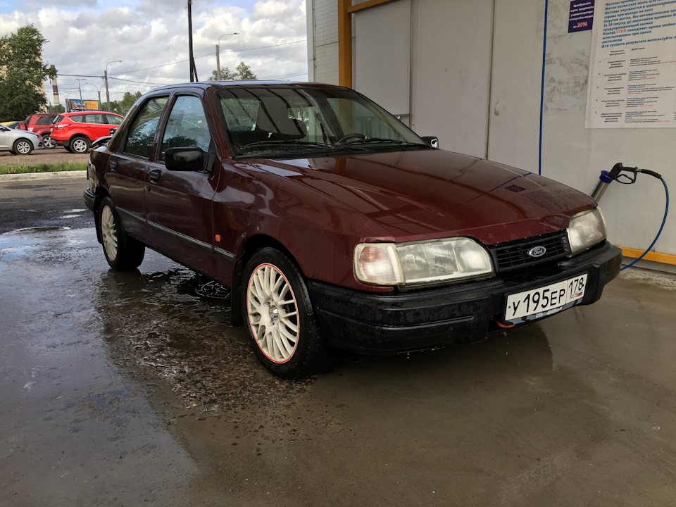
<path id="1" fill-rule="evenodd" d="M 377 285 L 423 285 L 487 277 L 489 253 L 473 239 L 460 237 L 413 243 L 363 243 L 354 249 L 358 280 Z"/>

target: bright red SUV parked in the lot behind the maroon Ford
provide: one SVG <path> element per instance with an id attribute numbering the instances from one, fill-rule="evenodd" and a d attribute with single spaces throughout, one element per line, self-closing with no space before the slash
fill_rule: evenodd
<path id="1" fill-rule="evenodd" d="M 92 142 L 111 135 L 123 119 L 123 116 L 103 111 L 61 114 L 51 125 L 51 139 L 56 146 L 63 146 L 71 153 L 87 153 Z"/>

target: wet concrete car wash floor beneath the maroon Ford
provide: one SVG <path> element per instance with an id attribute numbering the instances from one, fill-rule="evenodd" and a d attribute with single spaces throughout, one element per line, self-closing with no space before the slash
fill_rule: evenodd
<path id="1" fill-rule="evenodd" d="M 1 506 L 669 506 L 676 278 L 473 346 L 268 375 L 223 294 L 0 235 Z"/>

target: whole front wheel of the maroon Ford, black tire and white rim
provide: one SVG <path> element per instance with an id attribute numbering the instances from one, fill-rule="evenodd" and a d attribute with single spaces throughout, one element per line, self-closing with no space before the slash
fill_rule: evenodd
<path id="1" fill-rule="evenodd" d="M 263 248 L 244 269 L 242 315 L 258 360 L 277 377 L 320 373 L 329 358 L 296 265 L 281 251 Z"/>

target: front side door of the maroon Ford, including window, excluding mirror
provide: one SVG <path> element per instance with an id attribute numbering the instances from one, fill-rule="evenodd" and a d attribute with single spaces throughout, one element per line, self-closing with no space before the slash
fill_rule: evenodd
<path id="1" fill-rule="evenodd" d="M 179 94 L 173 100 L 156 161 L 146 175 L 146 219 L 158 250 L 215 277 L 212 201 L 217 178 L 208 169 L 168 170 L 165 152 L 172 147 L 198 147 L 207 157 L 214 151 L 199 96 Z"/>

